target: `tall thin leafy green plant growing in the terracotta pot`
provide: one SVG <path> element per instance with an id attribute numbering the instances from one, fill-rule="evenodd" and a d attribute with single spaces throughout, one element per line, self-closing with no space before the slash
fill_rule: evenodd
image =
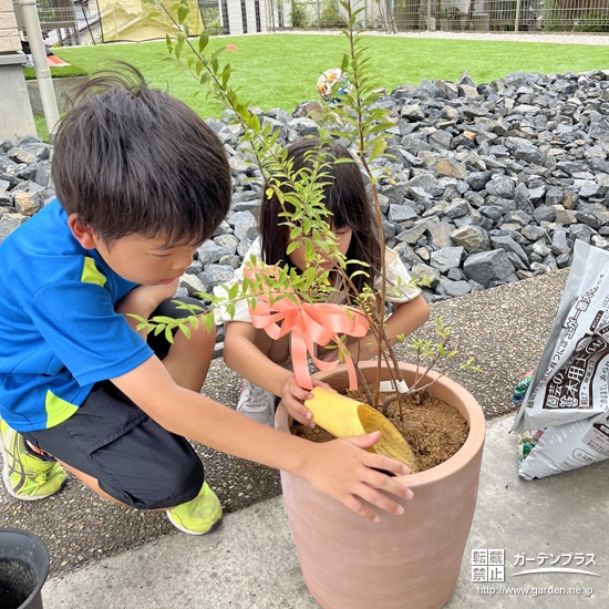
<path id="1" fill-rule="evenodd" d="M 161 0 L 148 1 L 172 19 L 178 30 L 175 40 L 167 37 L 168 52 L 198 80 L 207 95 L 219 99 L 226 105 L 233 121 L 240 125 L 242 130 L 241 148 L 249 149 L 251 153 L 251 163 L 258 167 L 267 185 L 267 196 L 277 196 L 281 204 L 280 217 L 290 231 L 290 245 L 287 254 L 289 255 L 291 250 L 300 247 L 300 244 L 304 246 L 306 266 L 301 272 L 289 266 L 269 267 L 259 260 L 251 259 L 247 261 L 248 266 L 242 282 L 225 286 L 225 297 L 218 298 L 213 295 L 202 295 L 202 297 L 213 308 L 226 308 L 229 316 L 234 314 L 238 301 L 247 299 L 254 318 L 255 313 L 260 313 L 260 309 L 264 314 L 277 310 L 273 308 L 285 308 L 286 301 L 291 303 L 290 306 L 299 308 L 300 314 L 307 314 L 308 307 L 318 304 L 328 307 L 332 293 L 347 288 L 353 295 L 351 302 L 354 309 L 338 304 L 333 307 L 344 316 L 344 319 L 363 318 L 367 330 L 369 328 L 373 343 L 376 345 L 378 359 L 378 375 L 374 386 L 368 385 L 357 365 L 353 373 L 357 374 L 360 388 L 365 392 L 369 403 L 379 409 L 381 369 L 383 363 L 386 364 L 393 388 L 400 388 L 400 392 L 393 396 L 393 400 L 398 399 L 401 410 L 402 388 L 405 383 L 394 350 L 385 333 L 384 311 L 385 297 L 392 289 L 400 290 L 401 286 L 389 288 L 386 286 L 385 248 L 382 245 L 379 265 L 382 275 L 381 287 L 373 289 L 364 283 L 362 289 L 357 288 L 353 278 L 358 273 L 368 276 L 367 265 L 358 260 L 348 260 L 338 249 L 338 239 L 330 229 L 330 213 L 326 208 L 323 194 L 324 186 L 331 179 L 328 167 L 331 163 L 338 162 L 327 152 L 327 143 L 332 137 L 341 137 L 357 151 L 358 161 L 372 187 L 375 229 L 379 235 L 383 234 L 378 184 L 383 179 L 390 180 L 391 176 L 381 171 L 380 159 L 386 156 L 385 148 L 390 137 L 388 128 L 392 127 L 394 123 L 389 111 L 378 104 L 383 93 L 379 89 L 379 83 L 369 74 L 370 58 L 368 49 L 363 44 L 362 32 L 355 31 L 363 9 L 354 10 L 349 0 L 341 1 L 341 7 L 347 16 L 347 28 L 342 32 L 347 40 L 347 51 L 342 58 L 341 70 L 342 73 L 349 74 L 351 86 L 340 95 L 340 103 L 326 106 L 322 123 L 319 125 L 320 145 L 317 149 L 311 151 L 309 166 L 295 171 L 292 161 L 288 158 L 287 148 L 278 142 L 279 132 L 273 132 L 270 124 L 262 125 L 259 117 L 249 112 L 247 105 L 241 101 L 240 92 L 231 86 L 233 70 L 230 64 L 220 62 L 223 50 L 206 54 L 209 41 L 208 32 L 203 32 L 194 40 L 189 38 L 186 22 L 187 0 L 180 0 L 172 8 L 166 8 Z M 340 82 L 334 83 L 333 86 L 340 86 Z M 330 99 L 336 96 L 336 91 L 331 91 Z M 328 261 L 333 265 L 331 269 L 326 268 Z M 351 272 L 351 270 L 348 272 L 347 269 L 351 265 L 359 265 L 363 268 L 355 272 Z M 338 275 L 340 279 L 338 282 L 330 279 L 331 272 Z M 189 324 L 197 327 L 199 323 L 197 314 L 200 314 L 203 309 L 186 304 L 182 304 L 182 308 L 189 310 L 192 314 L 178 320 L 158 317 L 152 320 L 137 318 L 140 329 L 146 328 L 148 332 L 155 334 L 165 332 L 169 342 L 173 340 L 173 330 L 176 328 L 188 337 Z M 200 317 L 203 322 L 210 328 L 213 313 L 210 311 L 203 312 Z M 281 331 L 286 330 L 286 323 L 285 321 Z M 448 362 L 458 352 L 458 345 L 448 350 L 451 330 L 442 319 L 436 320 L 434 328 L 435 341 L 430 343 L 414 341 L 412 347 L 417 353 L 417 362 L 421 359 L 431 358 L 427 371 L 438 361 Z M 344 333 L 336 333 L 332 340 L 323 347 L 337 349 L 338 361 L 352 365 Z M 311 353 L 311 355 L 313 354 Z M 472 359 L 467 360 L 464 365 L 469 370 L 475 369 Z M 304 368 L 307 368 L 306 361 Z M 424 391 L 429 386 L 422 385 L 424 381 L 425 373 L 417 378 L 416 383 L 407 393 L 415 394 Z"/>

